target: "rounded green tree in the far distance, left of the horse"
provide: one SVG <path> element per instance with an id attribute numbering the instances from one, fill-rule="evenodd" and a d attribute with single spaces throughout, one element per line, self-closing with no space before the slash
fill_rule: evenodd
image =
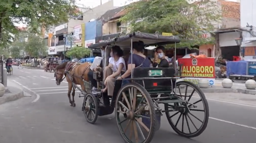
<path id="1" fill-rule="evenodd" d="M 27 41 L 24 41 L 24 51 L 27 55 L 38 58 L 47 55 L 47 47 L 44 39 L 37 34 L 28 34 Z"/>

